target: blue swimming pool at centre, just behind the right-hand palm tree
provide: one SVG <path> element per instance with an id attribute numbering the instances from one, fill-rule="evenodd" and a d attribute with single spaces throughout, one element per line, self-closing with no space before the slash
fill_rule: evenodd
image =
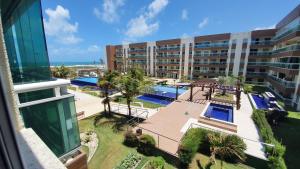
<path id="1" fill-rule="evenodd" d="M 137 99 L 160 105 L 168 105 L 176 98 L 176 87 L 155 85 L 152 89 L 153 91 L 145 92 L 145 94 L 138 96 Z M 186 89 L 184 88 L 178 88 L 178 96 L 185 91 Z"/>

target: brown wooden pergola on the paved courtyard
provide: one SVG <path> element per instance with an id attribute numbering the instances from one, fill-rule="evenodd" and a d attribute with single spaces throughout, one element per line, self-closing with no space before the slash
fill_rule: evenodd
<path id="1" fill-rule="evenodd" d="M 212 100 L 211 95 L 215 92 L 215 89 L 220 89 L 220 90 L 230 90 L 235 92 L 236 95 L 236 105 L 237 109 L 240 109 L 241 104 L 241 90 L 240 90 L 240 80 L 237 80 L 236 86 L 226 86 L 220 84 L 217 79 L 210 79 L 210 78 L 205 78 L 205 79 L 200 79 L 197 81 L 194 81 L 192 83 L 177 83 L 176 84 L 176 100 L 178 99 L 178 88 L 179 87 L 190 87 L 190 98 L 189 101 L 193 101 L 193 88 L 194 87 L 202 87 L 202 91 L 204 91 L 204 88 L 209 88 L 209 92 L 206 95 L 206 100 Z M 222 100 L 219 100 L 222 102 Z M 223 100 L 225 101 L 225 100 Z"/>

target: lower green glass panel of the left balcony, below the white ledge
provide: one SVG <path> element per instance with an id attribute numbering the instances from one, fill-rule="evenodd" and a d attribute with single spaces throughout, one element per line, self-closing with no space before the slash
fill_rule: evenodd
<path id="1" fill-rule="evenodd" d="M 61 156 L 80 146 L 74 98 L 20 108 L 26 128 L 32 128 L 46 145 Z"/>

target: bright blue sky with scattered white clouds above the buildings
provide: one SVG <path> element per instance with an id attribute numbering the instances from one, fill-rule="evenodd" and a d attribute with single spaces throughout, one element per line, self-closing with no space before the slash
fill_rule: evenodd
<path id="1" fill-rule="evenodd" d="M 105 46 L 274 28 L 300 0 L 42 0 L 50 62 L 105 60 Z"/>

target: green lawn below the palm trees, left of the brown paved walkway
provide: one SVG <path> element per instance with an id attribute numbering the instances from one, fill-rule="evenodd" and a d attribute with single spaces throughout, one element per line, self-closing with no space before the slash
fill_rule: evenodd
<path id="1" fill-rule="evenodd" d="M 80 132 L 93 130 L 99 139 L 99 147 L 88 164 L 89 169 L 114 168 L 129 153 L 137 153 L 135 148 L 123 145 L 127 118 L 119 115 L 105 117 L 103 114 L 79 121 Z M 151 159 L 154 157 L 146 157 Z M 166 164 L 166 169 L 173 169 L 172 162 Z"/>

